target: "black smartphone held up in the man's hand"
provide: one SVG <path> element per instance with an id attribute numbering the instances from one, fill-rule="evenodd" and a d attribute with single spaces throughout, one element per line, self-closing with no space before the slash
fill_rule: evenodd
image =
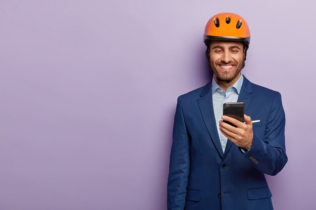
<path id="1" fill-rule="evenodd" d="M 224 103 L 223 104 L 223 115 L 233 117 L 240 122 L 244 122 L 244 112 L 245 112 L 245 105 L 243 102 L 231 102 L 231 103 Z M 231 122 L 223 120 L 227 124 L 230 124 L 234 127 L 237 127 Z"/>

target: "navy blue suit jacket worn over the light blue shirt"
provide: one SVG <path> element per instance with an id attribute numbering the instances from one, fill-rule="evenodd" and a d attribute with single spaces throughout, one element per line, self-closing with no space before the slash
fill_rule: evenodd
<path id="1" fill-rule="evenodd" d="M 178 97 L 168 177 L 168 210 L 273 209 L 264 174 L 287 162 L 280 93 L 245 77 L 238 97 L 253 123 L 250 151 L 229 139 L 223 153 L 216 127 L 212 81 Z"/>

